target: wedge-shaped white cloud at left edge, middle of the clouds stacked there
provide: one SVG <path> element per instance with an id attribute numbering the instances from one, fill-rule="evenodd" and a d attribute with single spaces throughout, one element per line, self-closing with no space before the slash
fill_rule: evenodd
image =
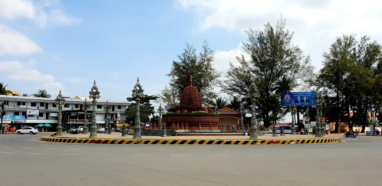
<path id="1" fill-rule="evenodd" d="M 35 42 L 23 34 L 0 24 L 0 55 L 30 55 L 41 51 Z"/>

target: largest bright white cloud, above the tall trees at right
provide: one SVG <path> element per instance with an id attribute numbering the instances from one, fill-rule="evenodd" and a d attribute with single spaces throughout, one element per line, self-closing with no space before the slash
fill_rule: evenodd
<path id="1" fill-rule="evenodd" d="M 336 36 L 355 33 L 382 42 L 382 1 L 179 0 L 177 5 L 194 13 L 197 32 L 223 28 L 244 34 L 248 28 L 263 29 L 267 22 L 275 25 L 282 13 L 286 27 L 295 32 L 293 44 L 311 55 L 316 67 Z"/>

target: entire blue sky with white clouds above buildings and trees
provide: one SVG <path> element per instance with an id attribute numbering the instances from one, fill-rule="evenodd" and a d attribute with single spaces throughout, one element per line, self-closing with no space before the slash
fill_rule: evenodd
<path id="1" fill-rule="evenodd" d="M 375 0 L 0 0 L 0 82 L 73 98 L 89 96 L 96 80 L 101 99 L 125 101 L 139 77 L 154 95 L 168 85 L 186 41 L 198 50 L 209 41 L 224 76 L 244 54 L 244 31 L 275 25 L 280 15 L 292 43 L 311 56 L 312 72 L 337 36 L 382 42 L 382 1 Z"/>

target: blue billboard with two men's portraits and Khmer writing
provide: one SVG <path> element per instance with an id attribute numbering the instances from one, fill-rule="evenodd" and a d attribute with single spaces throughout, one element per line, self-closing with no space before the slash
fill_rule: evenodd
<path id="1" fill-rule="evenodd" d="M 315 93 L 316 92 L 284 92 L 281 95 L 281 106 L 290 106 L 292 100 L 296 106 L 316 105 L 316 100 L 312 99 Z"/>

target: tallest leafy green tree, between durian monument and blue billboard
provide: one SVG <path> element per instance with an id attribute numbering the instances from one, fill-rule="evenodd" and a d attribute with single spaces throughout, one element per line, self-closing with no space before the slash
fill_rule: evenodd
<path id="1" fill-rule="evenodd" d="M 225 76 L 227 80 L 221 88 L 225 93 L 246 97 L 249 85 L 255 82 L 260 94 L 256 113 L 268 127 L 272 109 L 281 108 L 280 105 L 277 108 L 272 105 L 273 95 L 302 84 L 299 81 L 307 80 L 307 72 L 313 71 L 314 67 L 310 64 L 310 57 L 305 57 L 303 51 L 291 43 L 293 32 L 286 29 L 285 19 L 281 18 L 275 26 L 270 23 L 264 26 L 264 30 L 246 31 L 248 42 L 243 42 L 243 49 L 250 58 L 247 60 L 241 55 L 236 57 L 237 66 L 230 63 Z M 246 98 L 246 103 L 249 110 L 249 98 Z"/>

